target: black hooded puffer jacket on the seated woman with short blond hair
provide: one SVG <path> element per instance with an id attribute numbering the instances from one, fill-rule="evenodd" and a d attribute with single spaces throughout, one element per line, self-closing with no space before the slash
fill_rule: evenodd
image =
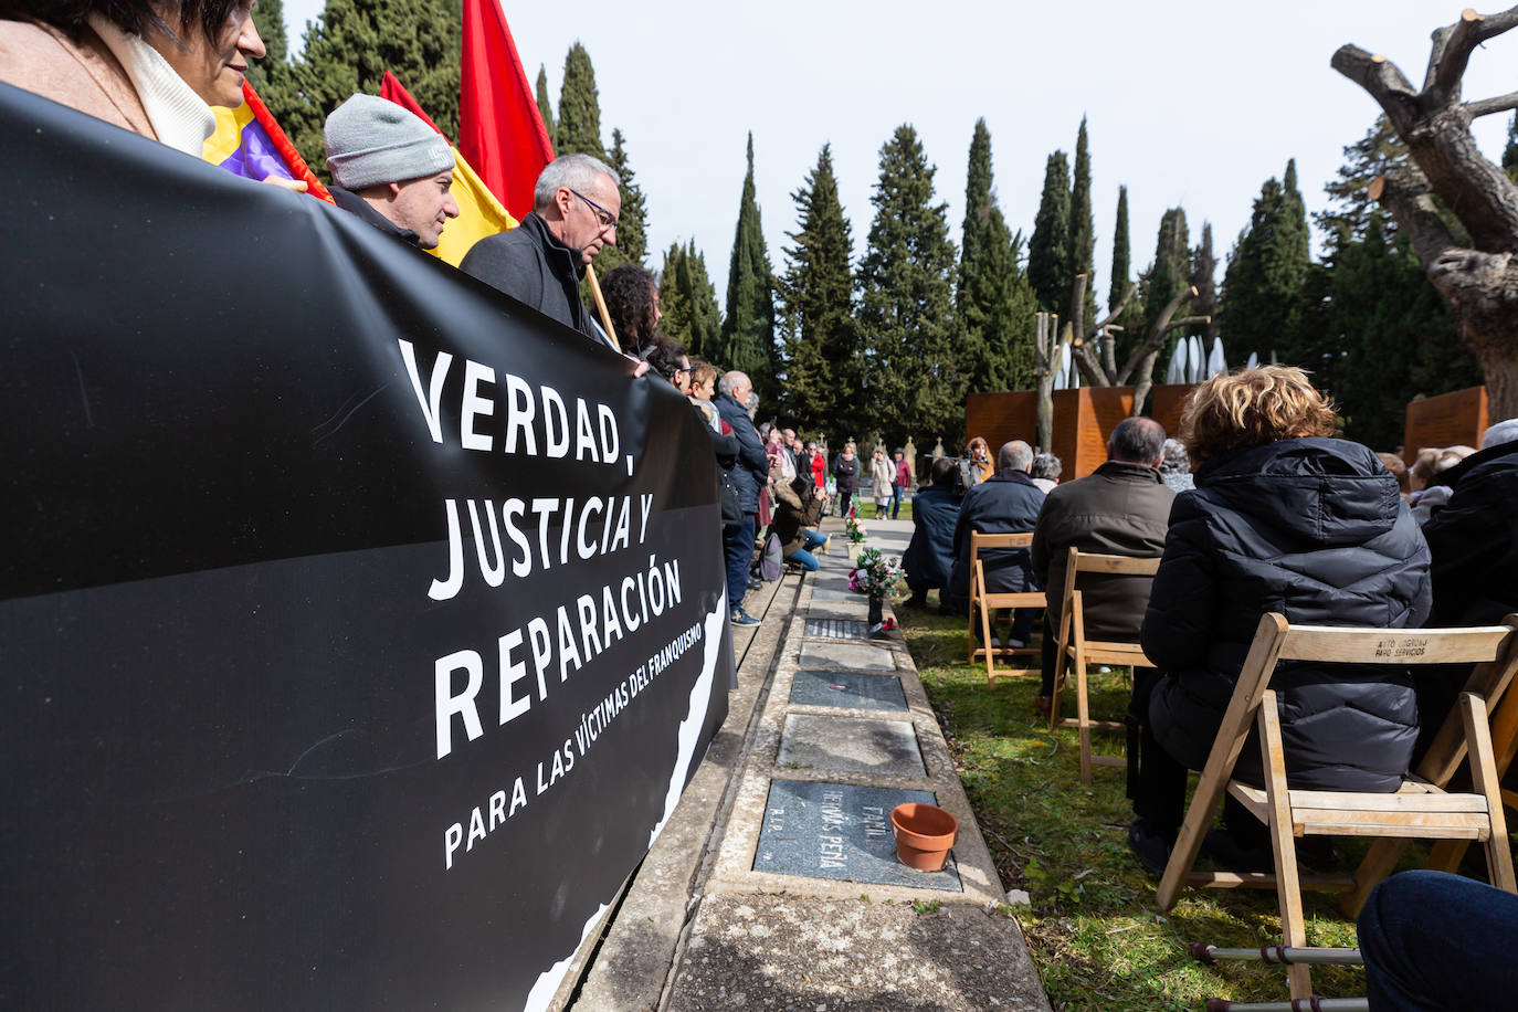
<path id="1" fill-rule="evenodd" d="M 1416 628 L 1428 546 L 1397 479 L 1365 446 L 1295 438 L 1208 460 L 1170 511 L 1143 648 L 1169 677 L 1154 734 L 1207 762 L 1260 616 L 1304 625 Z M 1293 787 L 1395 790 L 1418 734 L 1406 668 L 1281 663 L 1272 678 Z M 1237 775 L 1258 781 L 1251 742 Z"/>

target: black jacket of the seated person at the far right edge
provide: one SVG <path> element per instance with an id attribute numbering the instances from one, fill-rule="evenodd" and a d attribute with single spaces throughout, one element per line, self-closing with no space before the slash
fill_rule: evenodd
<path id="1" fill-rule="evenodd" d="M 1518 443 L 1471 454 L 1441 481 L 1450 502 L 1424 525 L 1430 625 L 1495 625 L 1518 611 Z"/>

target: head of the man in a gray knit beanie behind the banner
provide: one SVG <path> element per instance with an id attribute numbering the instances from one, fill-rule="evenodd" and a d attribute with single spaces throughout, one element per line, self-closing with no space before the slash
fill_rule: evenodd
<path id="1" fill-rule="evenodd" d="M 436 249 L 458 217 L 448 140 L 410 111 L 378 96 L 354 96 L 326 117 L 332 200 L 381 232 Z"/>

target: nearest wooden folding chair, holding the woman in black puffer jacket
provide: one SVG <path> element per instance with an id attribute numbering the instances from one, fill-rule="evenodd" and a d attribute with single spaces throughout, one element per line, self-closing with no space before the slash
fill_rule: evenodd
<path id="1" fill-rule="evenodd" d="M 1439 750 L 1439 754 L 1431 763 L 1419 766 L 1433 769 L 1442 763 L 1453 772 L 1459 757 L 1468 751 L 1475 792 L 1445 794 L 1441 783 L 1419 777 L 1409 778 L 1392 794 L 1289 787 L 1286 757 L 1281 753 L 1281 718 L 1275 692 L 1271 689 L 1271 677 L 1280 660 L 1383 665 L 1477 663 L 1466 689 L 1485 687 L 1486 692 L 1468 690 L 1460 695 L 1456 712 L 1445 721 L 1435 740 L 1433 748 Z M 1295 838 L 1307 834 L 1479 841 L 1486 847 L 1492 883 L 1507 892 L 1518 892 L 1486 718 L 1488 701 L 1500 699 L 1512 681 L 1515 668 L 1518 668 L 1518 616 L 1509 616 L 1506 625 L 1465 630 L 1292 627 L 1280 614 L 1263 616 L 1201 783 L 1186 812 L 1175 850 L 1170 851 L 1170 862 L 1160 880 L 1160 909 L 1173 907 L 1184 885 L 1225 889 L 1274 888 L 1281 904 L 1283 944 L 1305 947 L 1301 889 L 1336 892 L 1357 889 L 1354 878 L 1298 875 Z M 1255 725 L 1260 734 L 1266 780 L 1263 790 L 1231 780 L 1251 725 Z M 1433 751 L 1430 754 L 1433 756 Z M 1448 772 L 1444 781 L 1448 781 Z M 1271 850 L 1275 857 L 1274 875 L 1192 871 L 1202 836 L 1224 790 L 1269 825 Z M 1365 891 L 1369 892 L 1369 886 L 1375 883 L 1359 885 L 1365 885 Z M 1287 979 L 1293 1000 L 1312 997 L 1312 980 L 1305 965 L 1289 966 Z"/>

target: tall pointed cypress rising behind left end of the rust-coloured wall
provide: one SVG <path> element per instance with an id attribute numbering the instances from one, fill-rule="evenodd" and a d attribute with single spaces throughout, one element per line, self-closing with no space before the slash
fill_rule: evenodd
<path id="1" fill-rule="evenodd" d="M 1008 232 L 991 187 L 991 134 L 976 120 L 965 171 L 965 215 L 955 306 L 968 391 L 1023 390 L 1032 382 L 1037 311 L 1017 262 L 1022 235 Z"/>

